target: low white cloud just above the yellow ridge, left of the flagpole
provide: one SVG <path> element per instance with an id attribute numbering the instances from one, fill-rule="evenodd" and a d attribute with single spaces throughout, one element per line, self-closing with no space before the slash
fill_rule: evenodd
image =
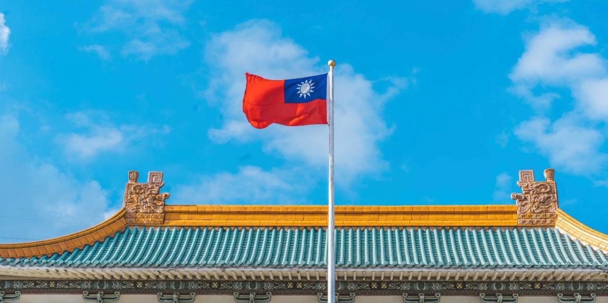
<path id="1" fill-rule="evenodd" d="M 201 175 L 193 184 L 176 186 L 171 196 L 191 204 L 296 204 L 307 202 L 305 196 L 313 182 L 297 169 L 265 171 L 243 166 L 234 174 Z"/>

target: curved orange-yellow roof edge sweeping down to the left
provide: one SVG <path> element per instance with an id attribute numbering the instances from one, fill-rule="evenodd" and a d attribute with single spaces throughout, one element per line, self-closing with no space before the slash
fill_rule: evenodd
<path id="1" fill-rule="evenodd" d="M 125 213 L 122 208 L 102 223 L 66 236 L 34 242 L 0 244 L 0 257 L 44 256 L 82 248 L 124 230 L 127 226 Z"/>

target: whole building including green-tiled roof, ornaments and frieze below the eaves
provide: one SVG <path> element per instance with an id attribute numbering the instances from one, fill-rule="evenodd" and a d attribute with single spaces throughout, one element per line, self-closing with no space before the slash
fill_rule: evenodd
<path id="1" fill-rule="evenodd" d="M 338 302 L 608 302 L 608 236 L 544 175 L 515 205 L 336 206 Z M 137 179 L 105 222 L 0 245 L 0 303 L 327 301 L 326 206 L 165 205 Z"/>

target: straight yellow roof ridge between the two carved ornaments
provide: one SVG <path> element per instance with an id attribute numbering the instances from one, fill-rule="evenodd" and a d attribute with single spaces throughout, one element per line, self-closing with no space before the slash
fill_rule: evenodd
<path id="1" fill-rule="evenodd" d="M 517 226 L 515 205 L 416 205 L 334 208 L 335 225 L 354 226 Z M 327 206 L 165 205 L 155 226 L 274 227 L 327 226 Z"/>

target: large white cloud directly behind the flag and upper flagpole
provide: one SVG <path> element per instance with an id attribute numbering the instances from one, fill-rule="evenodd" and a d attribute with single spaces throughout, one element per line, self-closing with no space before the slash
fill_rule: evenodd
<path id="1" fill-rule="evenodd" d="M 327 72 L 324 62 L 311 57 L 299 44 L 282 35 L 268 21 L 249 21 L 234 30 L 215 35 L 207 44 L 210 86 L 203 93 L 223 116 L 220 128 L 209 131 L 218 143 L 260 140 L 266 152 L 317 168 L 326 167 L 327 126 L 270 126 L 257 130 L 241 111 L 245 72 L 265 78 L 285 79 Z M 392 128 L 382 117 L 384 103 L 407 81 L 392 79 L 389 89 L 378 92 L 374 82 L 354 72 L 348 64 L 335 70 L 335 158 L 337 180 L 343 184 L 361 175 L 376 174 L 388 167 L 379 143 Z"/>

